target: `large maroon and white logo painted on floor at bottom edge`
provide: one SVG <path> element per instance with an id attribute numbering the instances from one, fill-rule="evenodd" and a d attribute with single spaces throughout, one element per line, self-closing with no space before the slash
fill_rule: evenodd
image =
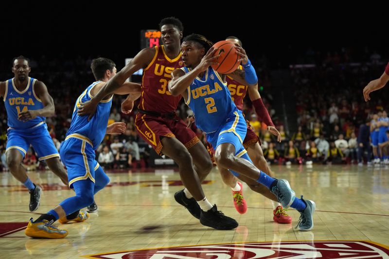
<path id="1" fill-rule="evenodd" d="M 389 250 L 366 241 L 258 242 L 196 245 L 88 255 L 103 259 L 389 259 Z"/>

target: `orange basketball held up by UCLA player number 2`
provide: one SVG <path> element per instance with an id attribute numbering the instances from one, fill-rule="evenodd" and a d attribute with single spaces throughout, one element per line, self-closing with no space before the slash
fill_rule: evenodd
<path id="1" fill-rule="evenodd" d="M 219 48 L 213 56 L 220 54 L 216 61 L 218 65 L 212 65 L 212 69 L 221 74 L 229 74 L 239 67 L 238 59 L 240 59 L 240 56 L 236 53 L 235 44 L 228 40 L 222 40 L 216 42 L 212 47 Z"/>

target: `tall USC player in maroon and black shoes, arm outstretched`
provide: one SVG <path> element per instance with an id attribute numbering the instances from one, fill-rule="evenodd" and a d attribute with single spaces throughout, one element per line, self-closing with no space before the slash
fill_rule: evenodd
<path id="1" fill-rule="evenodd" d="M 182 23 L 174 17 L 164 18 L 159 28 L 163 45 L 141 50 L 90 102 L 83 104 L 79 113 L 90 114 L 91 118 L 96 105 L 104 96 L 115 91 L 129 76 L 143 68 L 139 113 L 135 119 L 139 135 L 159 155 L 167 155 L 178 164 L 185 189 L 176 192 L 176 201 L 195 218 L 201 219 L 204 225 L 216 229 L 233 229 L 238 223 L 218 211 L 204 195 L 200 183 L 212 169 L 211 158 L 195 133 L 187 129 L 177 116 L 176 109 L 182 97 L 173 96 L 167 88 L 171 72 L 183 66 L 180 52 Z M 132 108 L 131 98 L 134 97 L 130 96 L 122 105 L 124 111 L 128 112 Z"/>

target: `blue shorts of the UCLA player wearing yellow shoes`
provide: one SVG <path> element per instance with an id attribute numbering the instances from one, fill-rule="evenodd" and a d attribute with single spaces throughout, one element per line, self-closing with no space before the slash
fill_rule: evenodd
<path id="1" fill-rule="evenodd" d="M 70 188 L 79 180 L 90 179 L 94 183 L 95 171 L 99 168 L 92 142 L 88 138 L 83 138 L 85 137 L 69 138 L 68 136 L 59 149 L 61 160 L 68 170 Z"/>

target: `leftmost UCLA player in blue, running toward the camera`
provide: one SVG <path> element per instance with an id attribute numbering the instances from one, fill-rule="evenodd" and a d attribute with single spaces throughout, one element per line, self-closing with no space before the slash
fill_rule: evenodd
<path id="1" fill-rule="evenodd" d="M 42 189 L 35 185 L 21 165 L 30 144 L 45 161 L 53 173 L 68 184 L 68 175 L 59 162 L 59 154 L 47 130 L 46 117 L 54 115 L 53 98 L 46 85 L 32 77 L 29 59 L 24 56 L 14 58 L 12 72 L 15 77 L 0 82 L 0 97 L 7 110 L 8 134 L 6 159 L 14 177 L 30 191 L 30 211 L 38 209 Z"/>

